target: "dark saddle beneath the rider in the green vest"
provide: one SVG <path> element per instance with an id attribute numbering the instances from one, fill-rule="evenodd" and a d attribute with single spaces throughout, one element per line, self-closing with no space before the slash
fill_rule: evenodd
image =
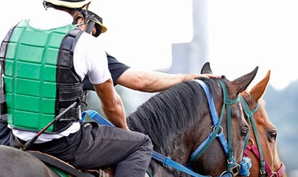
<path id="1" fill-rule="evenodd" d="M 36 158 L 43 161 L 43 163 L 49 166 L 56 173 L 64 173 L 67 176 L 77 176 L 77 177 L 96 177 L 96 176 L 106 176 L 104 171 L 96 171 L 96 170 L 87 170 L 81 171 L 75 169 L 74 166 L 67 164 L 67 162 L 57 159 L 55 156 L 51 156 L 49 154 L 45 154 L 43 152 L 37 151 L 26 151 L 29 154 L 35 156 Z"/>

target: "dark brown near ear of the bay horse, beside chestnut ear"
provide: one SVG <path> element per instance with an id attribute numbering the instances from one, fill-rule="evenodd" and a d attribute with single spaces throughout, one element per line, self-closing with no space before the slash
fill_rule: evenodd
<path id="1" fill-rule="evenodd" d="M 252 72 L 231 81 L 231 88 L 237 93 L 237 95 L 247 89 L 250 82 L 253 81 L 253 79 L 255 78 L 255 75 L 258 72 L 258 68 L 259 67 L 255 67 Z"/>

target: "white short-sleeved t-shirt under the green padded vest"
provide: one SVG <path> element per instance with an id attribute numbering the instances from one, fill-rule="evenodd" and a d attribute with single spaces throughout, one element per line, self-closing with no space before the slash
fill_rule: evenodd
<path id="1" fill-rule="evenodd" d="M 49 30 L 63 25 L 72 24 L 72 21 L 72 16 L 70 16 L 69 13 L 56 10 L 55 8 L 48 8 L 48 10 L 43 14 L 36 14 L 33 18 L 31 18 L 29 25 L 33 28 Z M 92 84 L 101 84 L 111 78 L 104 47 L 101 46 L 100 42 L 96 40 L 96 38 L 87 33 L 82 33 L 75 45 L 74 65 L 75 72 L 79 74 L 79 77 L 83 80 L 84 76 L 88 75 Z M 79 122 L 75 122 L 67 128 L 67 130 L 60 132 L 59 134 L 40 135 L 34 143 L 48 142 L 52 139 L 65 137 L 71 133 L 77 132 L 79 128 Z M 16 135 L 16 137 L 23 139 L 24 141 L 32 139 L 37 134 L 36 132 L 27 132 L 15 129 L 12 131 L 13 135 Z"/>

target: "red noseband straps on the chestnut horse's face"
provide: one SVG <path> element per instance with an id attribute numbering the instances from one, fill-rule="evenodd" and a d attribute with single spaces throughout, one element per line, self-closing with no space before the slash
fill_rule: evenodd
<path id="1" fill-rule="evenodd" d="M 248 156 L 250 150 L 260 160 L 260 153 L 258 151 L 258 147 L 256 147 L 255 144 L 251 144 L 250 146 L 246 147 L 246 149 L 244 151 L 244 156 Z M 264 159 L 264 161 L 265 161 L 265 159 Z M 285 173 L 285 164 L 282 163 L 282 165 L 280 166 L 280 169 L 278 169 L 278 171 L 274 172 L 271 170 L 270 166 L 265 161 L 265 171 L 266 171 L 267 175 L 270 177 L 280 177 L 283 175 L 283 173 Z"/>

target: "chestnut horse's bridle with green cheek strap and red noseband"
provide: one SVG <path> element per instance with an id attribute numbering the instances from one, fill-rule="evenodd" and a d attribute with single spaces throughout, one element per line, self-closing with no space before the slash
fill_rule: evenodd
<path id="1" fill-rule="evenodd" d="M 255 114 L 258 111 L 258 108 L 260 107 L 260 103 L 257 104 L 255 109 L 250 110 L 250 108 L 248 106 L 248 103 L 246 103 L 246 101 L 244 100 L 244 98 L 242 96 L 240 96 L 240 100 L 243 103 L 243 109 L 244 109 L 245 115 L 248 118 L 248 121 L 253 126 L 253 132 L 255 134 L 255 140 L 256 140 L 257 146 L 258 146 L 258 147 L 255 146 L 255 143 L 253 142 L 253 139 L 250 139 L 250 137 L 245 139 L 244 156 L 248 156 L 250 150 L 253 152 L 253 154 L 255 154 L 255 156 L 257 156 L 257 158 L 260 161 L 260 176 L 265 176 L 265 173 L 267 173 L 267 176 L 270 176 L 270 177 L 271 176 L 272 177 L 282 176 L 282 174 L 285 173 L 285 164 L 282 163 L 282 166 L 280 166 L 280 169 L 278 171 L 272 171 L 272 169 L 270 168 L 268 163 L 263 158 L 263 151 L 262 151 L 262 147 L 260 145 L 260 139 L 259 139 L 259 136 L 258 136 L 257 127 L 255 125 L 255 120 L 253 119 L 253 114 Z M 250 146 L 248 146 L 248 141 L 249 140 L 252 142 L 252 144 Z"/>

